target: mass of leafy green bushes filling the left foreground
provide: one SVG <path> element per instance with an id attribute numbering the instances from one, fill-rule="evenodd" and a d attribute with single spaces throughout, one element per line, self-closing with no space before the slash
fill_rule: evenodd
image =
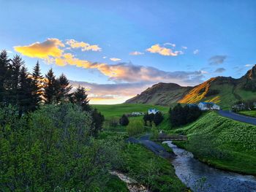
<path id="1" fill-rule="evenodd" d="M 75 105 L 22 118 L 9 107 L 0 122 L 1 191 L 102 191 L 120 162 L 118 139 L 91 137 L 91 114 Z"/>

